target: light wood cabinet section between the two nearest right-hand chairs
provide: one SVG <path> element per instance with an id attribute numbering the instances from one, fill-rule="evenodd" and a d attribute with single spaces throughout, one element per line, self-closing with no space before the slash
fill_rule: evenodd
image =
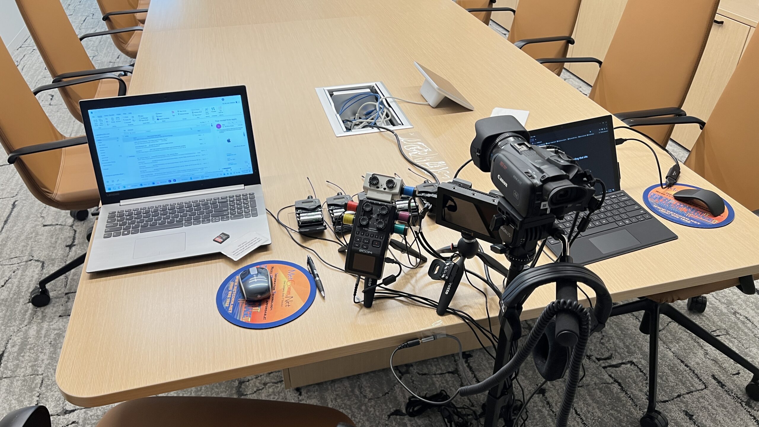
<path id="1" fill-rule="evenodd" d="M 735 71 L 751 28 L 719 14 L 716 15 L 716 21 L 723 24 L 713 24 L 698 71 L 682 106 L 688 115 L 704 121 L 709 119 L 732 71 Z M 676 125 L 671 138 L 690 150 L 700 133 L 698 125 Z"/>

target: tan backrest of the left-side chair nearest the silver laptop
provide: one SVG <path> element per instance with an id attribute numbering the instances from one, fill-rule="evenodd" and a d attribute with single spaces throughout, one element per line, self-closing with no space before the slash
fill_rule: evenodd
<path id="1" fill-rule="evenodd" d="M 4 100 L 0 103 L 0 144 L 6 153 L 64 138 L 48 119 L 5 47 L 0 47 L 0 93 Z M 14 166 L 33 195 L 45 202 L 58 182 L 61 150 L 29 154 Z"/>

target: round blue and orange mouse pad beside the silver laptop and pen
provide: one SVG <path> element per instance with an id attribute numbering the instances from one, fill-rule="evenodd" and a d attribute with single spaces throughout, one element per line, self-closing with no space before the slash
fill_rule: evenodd
<path id="1" fill-rule="evenodd" d="M 240 289 L 240 273 L 253 267 L 269 270 L 271 296 L 246 301 Z M 300 265 L 287 261 L 263 261 L 235 270 L 219 286 L 216 307 L 230 323 L 250 329 L 276 327 L 300 317 L 311 306 L 317 283 Z"/>

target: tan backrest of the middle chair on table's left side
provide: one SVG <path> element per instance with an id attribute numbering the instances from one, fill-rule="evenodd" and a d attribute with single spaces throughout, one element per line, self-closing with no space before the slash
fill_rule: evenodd
<path id="1" fill-rule="evenodd" d="M 95 68 L 60 0 L 16 0 L 16 4 L 52 77 Z M 80 122 L 79 101 L 94 98 L 98 85 L 93 81 L 58 89 L 68 111 Z"/>

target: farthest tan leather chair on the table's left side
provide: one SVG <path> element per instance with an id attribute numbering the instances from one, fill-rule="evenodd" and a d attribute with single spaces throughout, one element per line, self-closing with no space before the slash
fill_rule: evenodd
<path id="1" fill-rule="evenodd" d="M 97 0 L 102 13 L 102 20 L 106 21 L 109 30 L 134 29 L 140 27 L 145 21 L 137 19 L 137 13 L 146 13 L 147 8 L 128 10 L 134 0 Z M 127 9 L 127 10 L 125 10 Z M 130 58 L 137 58 L 137 50 L 140 49 L 142 31 L 122 31 L 110 33 L 116 49 Z"/>

